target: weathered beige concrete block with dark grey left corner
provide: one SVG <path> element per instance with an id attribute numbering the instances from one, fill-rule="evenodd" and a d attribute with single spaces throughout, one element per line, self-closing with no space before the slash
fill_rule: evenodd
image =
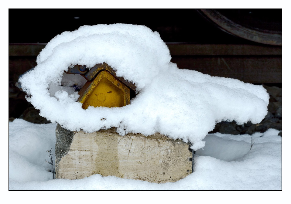
<path id="1" fill-rule="evenodd" d="M 192 173 L 190 143 L 161 134 L 122 137 L 115 130 L 73 132 L 57 125 L 56 178 L 101 174 L 165 183 Z"/>

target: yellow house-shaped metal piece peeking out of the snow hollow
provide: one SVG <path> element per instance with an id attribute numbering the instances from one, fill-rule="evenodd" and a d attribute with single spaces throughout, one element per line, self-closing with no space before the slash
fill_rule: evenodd
<path id="1" fill-rule="evenodd" d="M 122 107 L 129 104 L 130 89 L 106 70 L 98 73 L 79 92 L 82 108 L 88 106 Z"/>

